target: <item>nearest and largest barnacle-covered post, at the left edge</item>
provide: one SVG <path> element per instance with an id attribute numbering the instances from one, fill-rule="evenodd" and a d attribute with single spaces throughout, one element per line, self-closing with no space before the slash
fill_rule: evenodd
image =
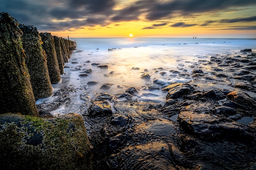
<path id="1" fill-rule="evenodd" d="M 0 12 L 0 113 L 38 116 L 19 23 Z"/>

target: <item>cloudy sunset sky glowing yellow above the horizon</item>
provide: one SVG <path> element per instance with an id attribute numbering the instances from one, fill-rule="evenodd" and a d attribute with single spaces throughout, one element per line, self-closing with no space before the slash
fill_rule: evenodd
<path id="1" fill-rule="evenodd" d="M 0 11 L 63 38 L 256 38 L 256 0 L 0 0 Z"/>

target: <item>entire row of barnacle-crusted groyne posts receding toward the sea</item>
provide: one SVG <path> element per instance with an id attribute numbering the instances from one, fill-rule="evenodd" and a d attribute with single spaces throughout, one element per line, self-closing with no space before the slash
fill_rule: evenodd
<path id="1" fill-rule="evenodd" d="M 38 116 L 35 100 L 52 95 L 75 45 L 0 12 L 0 114 Z"/>

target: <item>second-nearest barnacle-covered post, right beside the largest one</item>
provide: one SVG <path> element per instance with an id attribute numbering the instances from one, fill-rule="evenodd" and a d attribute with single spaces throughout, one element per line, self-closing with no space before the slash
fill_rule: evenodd
<path id="1" fill-rule="evenodd" d="M 19 27 L 23 32 L 21 40 L 34 97 L 35 99 L 49 97 L 52 95 L 52 85 L 47 68 L 47 56 L 41 45 L 43 43 L 41 37 L 35 26 L 20 24 Z"/>

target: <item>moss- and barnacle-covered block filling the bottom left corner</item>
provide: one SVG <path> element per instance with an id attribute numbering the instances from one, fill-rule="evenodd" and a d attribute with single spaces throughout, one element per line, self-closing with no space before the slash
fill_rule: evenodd
<path id="1" fill-rule="evenodd" d="M 83 119 L 70 113 L 52 119 L 0 115 L 0 167 L 26 170 L 91 170 Z"/>

